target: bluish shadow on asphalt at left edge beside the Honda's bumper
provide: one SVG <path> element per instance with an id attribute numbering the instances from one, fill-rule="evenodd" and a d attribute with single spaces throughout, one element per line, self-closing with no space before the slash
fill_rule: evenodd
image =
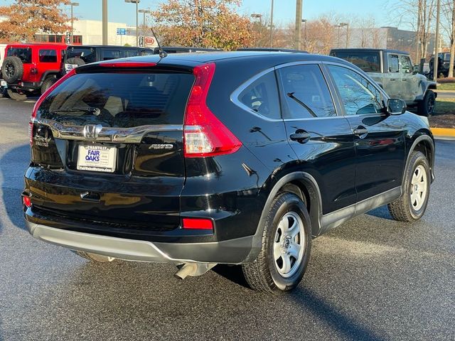
<path id="1" fill-rule="evenodd" d="M 23 189 L 23 173 L 28 165 L 30 146 L 24 144 L 12 148 L 0 159 L 2 200 L 7 217 L 0 217 L 0 233 L 4 229 L 6 219 L 19 229 L 26 229 L 23 221 L 21 193 Z M 25 158 L 26 157 L 26 158 Z"/>

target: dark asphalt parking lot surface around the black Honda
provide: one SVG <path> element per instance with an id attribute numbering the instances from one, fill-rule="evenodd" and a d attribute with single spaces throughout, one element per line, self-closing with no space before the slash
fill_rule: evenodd
<path id="1" fill-rule="evenodd" d="M 26 232 L 29 103 L 0 99 L 0 340 L 455 340 L 455 141 L 437 141 L 427 214 L 386 207 L 314 240 L 293 293 L 237 268 L 180 281 L 174 266 L 89 264 Z"/>

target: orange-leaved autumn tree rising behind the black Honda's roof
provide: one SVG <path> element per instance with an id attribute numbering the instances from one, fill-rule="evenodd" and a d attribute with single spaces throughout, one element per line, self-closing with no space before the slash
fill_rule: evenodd
<path id="1" fill-rule="evenodd" d="M 235 50 L 250 46 L 255 31 L 250 18 L 235 10 L 240 0 L 169 0 L 153 12 L 163 45 Z"/>

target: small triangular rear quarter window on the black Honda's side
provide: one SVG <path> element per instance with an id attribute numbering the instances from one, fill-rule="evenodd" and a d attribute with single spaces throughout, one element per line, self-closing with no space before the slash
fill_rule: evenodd
<path id="1" fill-rule="evenodd" d="M 274 72 L 259 77 L 240 92 L 240 102 L 268 119 L 281 119 L 277 78 Z"/>

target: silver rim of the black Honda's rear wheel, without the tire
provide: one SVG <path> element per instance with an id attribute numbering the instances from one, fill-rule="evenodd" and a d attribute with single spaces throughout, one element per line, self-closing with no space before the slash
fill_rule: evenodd
<path id="1" fill-rule="evenodd" d="M 275 268 L 284 278 L 299 269 L 305 252 L 305 229 L 296 212 L 287 212 L 278 223 L 273 245 Z"/>

